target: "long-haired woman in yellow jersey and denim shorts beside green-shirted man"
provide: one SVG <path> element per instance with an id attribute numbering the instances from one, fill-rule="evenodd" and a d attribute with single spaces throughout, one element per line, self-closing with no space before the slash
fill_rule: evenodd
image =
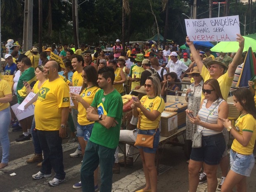
<path id="1" fill-rule="evenodd" d="M 100 88 L 98 87 L 98 83 L 97 83 L 98 73 L 93 66 L 91 65 L 85 66 L 82 71 L 82 77 L 83 77 L 83 85 L 82 85 L 80 94 L 70 93 L 70 97 L 73 100 L 74 107 L 78 109 L 77 137 L 78 137 L 78 142 L 81 145 L 82 154 L 84 155 L 85 147 L 92 133 L 92 127 L 94 124 L 94 121 L 89 121 L 87 119 L 86 109 L 90 107 L 96 92 L 100 90 Z M 98 189 L 97 174 L 98 174 L 98 169 L 94 171 L 95 190 Z M 82 187 L 81 181 L 73 185 L 74 189 L 79 189 L 81 187 Z"/>

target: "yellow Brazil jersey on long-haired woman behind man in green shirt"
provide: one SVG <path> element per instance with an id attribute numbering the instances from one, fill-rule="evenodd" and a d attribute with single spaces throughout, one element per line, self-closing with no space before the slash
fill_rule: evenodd
<path id="1" fill-rule="evenodd" d="M 85 88 L 85 90 L 83 90 L 83 92 L 81 93 L 81 97 L 88 104 L 92 104 L 92 100 L 95 96 L 95 93 L 98 92 L 98 90 L 100 90 L 100 88 L 96 86 Z M 83 107 L 83 105 L 80 102 L 78 102 L 77 109 L 78 109 L 77 121 L 80 125 L 89 125 L 94 123 L 94 121 L 88 121 L 88 119 L 86 118 L 87 116 L 86 109 Z"/>

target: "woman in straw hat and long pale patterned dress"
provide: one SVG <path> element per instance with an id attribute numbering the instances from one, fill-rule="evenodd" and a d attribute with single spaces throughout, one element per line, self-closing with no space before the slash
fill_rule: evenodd
<path id="1" fill-rule="evenodd" d="M 201 102 L 201 94 L 202 88 L 204 84 L 204 80 L 202 79 L 200 72 L 195 66 L 191 73 L 187 73 L 190 77 L 194 78 L 194 82 L 189 86 L 186 92 L 185 100 L 187 102 L 187 109 L 193 111 L 193 115 L 197 116 L 200 102 Z M 192 139 L 194 133 L 197 131 L 197 125 L 192 124 L 188 116 L 186 117 L 186 147 L 184 147 L 185 154 L 187 159 L 190 159 L 190 154 L 192 150 Z M 187 163 L 189 160 L 187 161 Z"/>

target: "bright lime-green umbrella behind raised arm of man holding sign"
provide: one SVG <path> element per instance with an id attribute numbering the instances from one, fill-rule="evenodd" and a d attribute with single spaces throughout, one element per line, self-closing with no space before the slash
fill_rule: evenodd
<path id="1" fill-rule="evenodd" d="M 253 52 L 256 52 L 256 40 L 244 37 L 244 51 L 247 51 L 249 47 L 252 48 Z M 239 43 L 237 41 L 221 41 L 217 45 L 211 48 L 211 51 L 213 52 L 223 52 L 223 53 L 229 53 L 229 52 L 237 52 L 239 48 Z"/>

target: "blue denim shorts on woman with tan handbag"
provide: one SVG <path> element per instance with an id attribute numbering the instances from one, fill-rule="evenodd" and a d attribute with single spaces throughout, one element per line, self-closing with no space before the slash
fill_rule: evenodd
<path id="1" fill-rule="evenodd" d="M 138 133 L 143 134 L 143 135 L 154 135 L 155 132 L 156 132 L 156 134 L 154 136 L 153 149 L 149 148 L 149 147 L 137 146 L 138 149 L 143 149 L 143 152 L 146 152 L 146 153 L 156 153 L 156 150 L 157 150 L 158 144 L 159 144 L 159 140 L 160 140 L 160 131 L 159 131 L 159 129 L 157 129 L 157 131 L 156 131 L 156 129 L 150 129 L 150 130 L 138 129 Z"/>

